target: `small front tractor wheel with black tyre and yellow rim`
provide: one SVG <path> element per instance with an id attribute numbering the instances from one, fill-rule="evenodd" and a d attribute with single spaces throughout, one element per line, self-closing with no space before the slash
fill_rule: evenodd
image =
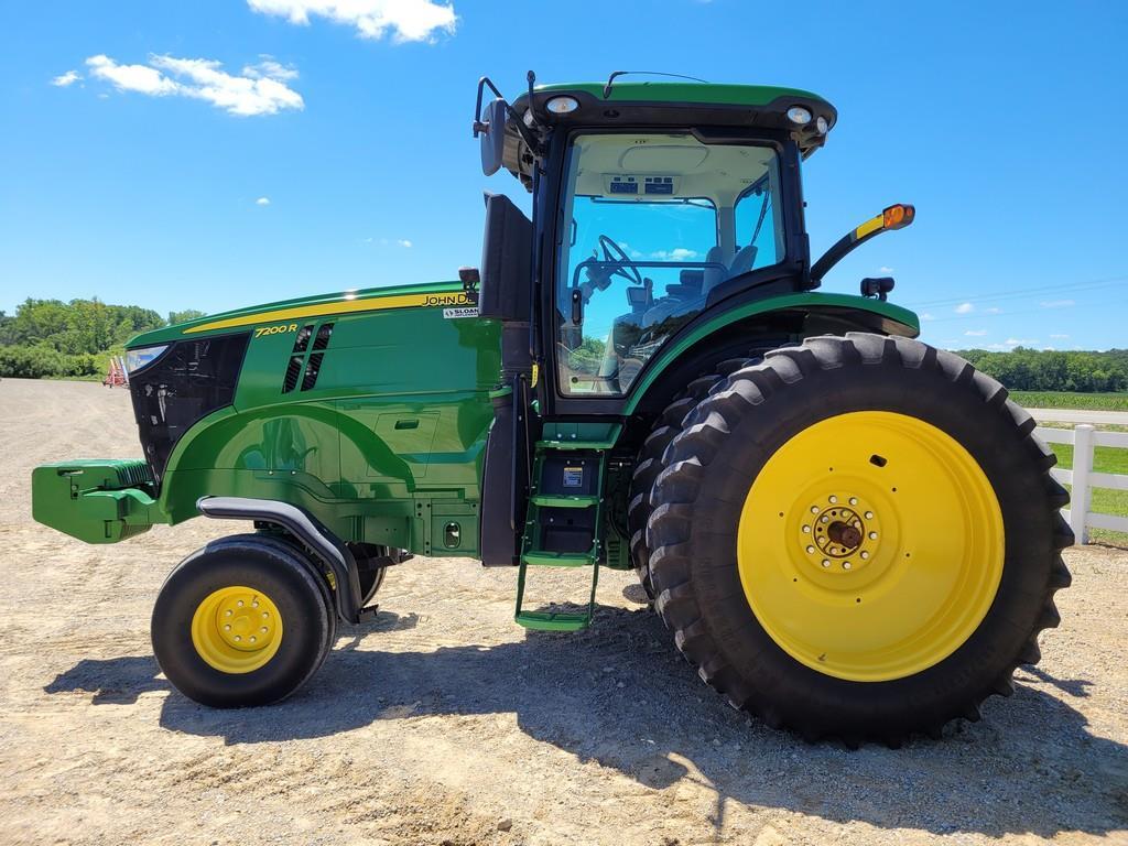
<path id="1" fill-rule="evenodd" d="M 180 693 L 212 707 L 267 705 L 314 675 L 336 617 L 302 556 L 282 540 L 237 535 L 177 565 L 157 597 L 152 646 Z"/>

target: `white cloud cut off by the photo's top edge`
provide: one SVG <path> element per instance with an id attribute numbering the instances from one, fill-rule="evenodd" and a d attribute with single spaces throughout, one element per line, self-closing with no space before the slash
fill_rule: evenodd
<path id="1" fill-rule="evenodd" d="M 438 33 L 453 34 L 458 23 L 455 7 L 431 0 L 247 0 L 263 15 L 283 17 L 306 26 L 310 17 L 323 17 L 356 29 L 362 38 L 391 35 L 397 44 L 433 43 Z"/>

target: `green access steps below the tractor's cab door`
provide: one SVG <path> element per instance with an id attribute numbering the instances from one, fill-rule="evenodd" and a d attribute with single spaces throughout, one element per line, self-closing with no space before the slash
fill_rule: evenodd
<path id="1" fill-rule="evenodd" d="M 602 492 L 607 457 L 618 439 L 615 424 L 546 423 L 534 456 L 514 620 L 541 632 L 579 632 L 591 625 L 602 557 Z M 591 567 L 591 593 L 584 611 L 525 610 L 529 567 Z"/>

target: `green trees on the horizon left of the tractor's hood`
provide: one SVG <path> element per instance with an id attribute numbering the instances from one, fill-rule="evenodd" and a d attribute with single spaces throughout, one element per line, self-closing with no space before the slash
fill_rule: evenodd
<path id="1" fill-rule="evenodd" d="M 0 311 L 0 377 L 89 378 L 102 376 L 109 356 L 141 332 L 202 317 L 192 309 L 162 317 L 140 306 L 111 306 L 97 299 L 27 299 L 15 315 Z"/>

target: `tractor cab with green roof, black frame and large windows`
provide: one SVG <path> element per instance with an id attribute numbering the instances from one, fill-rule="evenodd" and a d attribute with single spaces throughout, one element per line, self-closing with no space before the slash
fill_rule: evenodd
<path id="1" fill-rule="evenodd" d="M 818 284 L 799 165 L 823 143 L 834 107 L 797 89 L 620 76 L 530 81 L 512 106 L 479 82 L 483 170 L 504 167 L 534 194 L 530 244 L 504 252 L 528 252 L 534 264 L 510 281 L 534 294 L 523 317 L 537 327 L 531 352 L 549 414 L 619 412 L 668 342 L 717 303 Z M 483 108 L 486 89 L 496 96 Z M 504 237 L 487 227 L 486 265 Z M 509 274 L 485 270 L 488 297 Z"/>

